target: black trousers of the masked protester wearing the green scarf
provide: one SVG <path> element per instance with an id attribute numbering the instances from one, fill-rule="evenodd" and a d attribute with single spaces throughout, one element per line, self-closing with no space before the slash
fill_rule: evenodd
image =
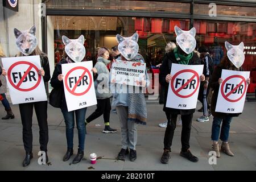
<path id="1" fill-rule="evenodd" d="M 166 113 L 168 114 L 168 112 Z M 181 115 L 182 130 L 181 130 L 181 151 L 189 149 L 189 139 L 191 132 L 193 114 Z M 168 116 L 167 116 L 168 119 Z M 176 128 L 177 114 L 171 114 L 171 119 L 168 119 L 166 133 L 164 134 L 164 150 L 170 150 L 172 146 L 172 139 L 174 138 L 174 131 Z"/>

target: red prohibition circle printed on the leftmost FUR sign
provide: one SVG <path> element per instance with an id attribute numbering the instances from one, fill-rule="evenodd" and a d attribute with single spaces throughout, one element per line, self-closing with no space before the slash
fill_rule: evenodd
<path id="1" fill-rule="evenodd" d="M 16 67 L 16 65 L 19 65 L 19 64 L 27 64 L 27 65 L 29 65 L 29 67 L 28 67 L 27 71 L 24 73 L 24 75 L 25 74 L 27 75 L 27 73 L 30 72 L 30 70 L 32 68 L 34 68 L 36 70 L 36 73 L 38 73 L 38 71 L 39 71 L 39 69 L 36 67 L 36 65 L 34 65 L 34 64 L 32 64 L 32 63 L 30 63 L 28 61 L 18 61 L 16 63 L 14 63 L 13 65 L 10 66 L 10 68 L 8 70 L 8 73 L 7 73 L 7 78 L 9 80 L 11 86 L 13 86 L 15 89 L 17 89 L 19 91 L 22 91 L 22 92 L 28 92 L 28 91 L 34 90 L 36 87 L 38 87 L 38 85 L 40 84 L 40 81 L 41 81 L 41 76 L 39 74 L 38 74 L 38 81 L 36 82 L 36 84 L 34 86 L 32 86 L 31 88 L 28 88 L 28 89 L 19 88 L 19 86 L 22 84 L 24 79 L 19 81 L 19 83 L 17 84 L 18 86 L 14 84 L 13 80 L 11 80 L 11 71 L 13 70 L 14 67 Z"/>

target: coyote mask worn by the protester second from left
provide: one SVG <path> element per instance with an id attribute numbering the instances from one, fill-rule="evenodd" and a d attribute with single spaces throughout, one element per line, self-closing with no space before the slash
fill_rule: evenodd
<path id="1" fill-rule="evenodd" d="M 62 41 L 65 44 L 65 52 L 73 61 L 80 62 L 84 59 L 84 35 L 80 35 L 78 39 L 69 39 L 63 35 Z"/>

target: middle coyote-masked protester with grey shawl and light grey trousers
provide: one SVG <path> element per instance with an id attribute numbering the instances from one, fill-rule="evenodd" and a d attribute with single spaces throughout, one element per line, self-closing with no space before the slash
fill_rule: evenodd
<path id="1" fill-rule="evenodd" d="M 139 46 L 137 42 L 139 35 L 137 33 L 129 38 L 125 38 L 119 34 L 117 34 L 116 37 L 118 50 L 122 55 L 121 58 L 118 58 L 117 60 L 144 63 L 143 57 L 138 54 Z M 150 81 L 146 75 L 146 81 L 141 81 L 141 87 L 148 86 L 149 84 Z M 127 93 L 127 91 L 130 90 L 128 85 L 112 83 L 112 86 L 114 86 L 115 89 L 112 105 L 116 106 L 119 121 L 121 123 L 122 148 L 118 154 L 118 159 L 124 160 L 125 155 L 129 154 L 130 148 L 130 161 L 133 162 L 137 159 L 137 124 L 146 125 L 146 101 L 144 94 L 141 92 L 141 88 L 139 88 L 139 93 L 134 93 L 135 86 L 131 86 L 131 88 L 133 88 L 132 92 Z"/>

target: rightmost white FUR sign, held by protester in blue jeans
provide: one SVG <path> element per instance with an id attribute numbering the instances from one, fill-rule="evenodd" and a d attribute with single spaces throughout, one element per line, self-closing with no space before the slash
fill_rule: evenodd
<path id="1" fill-rule="evenodd" d="M 216 112 L 242 113 L 248 88 L 246 79 L 249 76 L 250 72 L 222 69 L 223 82 L 218 90 Z"/>

